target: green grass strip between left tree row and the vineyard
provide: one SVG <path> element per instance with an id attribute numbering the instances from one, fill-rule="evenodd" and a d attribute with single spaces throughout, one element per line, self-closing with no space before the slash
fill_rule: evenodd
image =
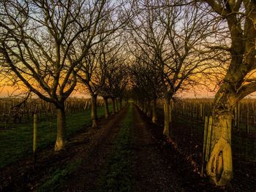
<path id="1" fill-rule="evenodd" d="M 112 106 L 109 107 L 112 110 Z M 105 115 L 104 107 L 98 107 L 98 116 Z M 75 134 L 91 124 L 91 110 L 67 115 L 67 136 Z M 56 139 L 56 118 L 42 121 L 37 126 L 37 149 L 54 144 Z M 10 130 L 0 131 L 0 168 L 18 161 L 33 150 L 33 122 L 21 123 Z"/>

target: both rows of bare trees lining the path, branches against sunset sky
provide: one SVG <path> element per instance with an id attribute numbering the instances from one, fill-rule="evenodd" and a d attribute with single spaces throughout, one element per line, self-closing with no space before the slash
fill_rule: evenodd
<path id="1" fill-rule="evenodd" d="M 255 30 L 249 0 L 1 1 L 1 76 L 56 106 L 55 150 L 66 143 L 64 101 L 75 89 L 91 96 L 93 127 L 98 96 L 108 118 L 108 99 L 116 112 L 129 91 L 153 122 L 163 99 L 171 137 L 170 101 L 216 80 L 207 174 L 226 185 L 232 112 L 256 91 Z"/>

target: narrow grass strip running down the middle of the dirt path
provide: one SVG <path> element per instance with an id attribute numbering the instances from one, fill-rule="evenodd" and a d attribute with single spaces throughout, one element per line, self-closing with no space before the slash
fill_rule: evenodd
<path id="1" fill-rule="evenodd" d="M 113 152 L 99 176 L 98 191 L 132 191 L 132 150 L 130 149 L 130 129 L 132 128 L 132 106 L 113 145 Z"/>

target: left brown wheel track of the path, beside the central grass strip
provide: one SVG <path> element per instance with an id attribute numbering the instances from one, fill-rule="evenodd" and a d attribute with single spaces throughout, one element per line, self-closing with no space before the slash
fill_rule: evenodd
<path id="1" fill-rule="evenodd" d="M 80 158 L 83 158 L 83 162 L 78 170 L 67 178 L 64 191 L 95 191 L 99 174 L 101 174 L 105 161 L 112 150 L 120 123 L 127 114 L 127 108 L 115 120 L 108 123 L 106 128 L 108 131 L 99 141 L 97 147 L 94 147 L 91 153 L 84 153 L 80 156 Z"/>

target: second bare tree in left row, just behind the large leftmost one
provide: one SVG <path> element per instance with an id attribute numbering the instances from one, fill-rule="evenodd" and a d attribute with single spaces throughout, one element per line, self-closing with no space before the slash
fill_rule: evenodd
<path id="1" fill-rule="evenodd" d="M 105 4 L 105 6 L 103 6 Z M 129 19 L 129 9 L 125 8 L 123 1 L 103 1 L 102 4 L 102 20 L 95 28 L 93 46 L 89 50 L 89 54 L 83 58 L 82 65 L 78 71 L 80 82 L 86 85 L 91 95 L 91 120 L 92 127 L 97 126 L 97 96 L 99 90 L 105 82 L 105 55 L 108 52 L 108 46 L 118 36 L 118 31 L 123 28 Z M 125 13 L 124 13 L 125 12 Z M 126 15 L 126 19 L 122 19 L 122 15 Z M 113 43 L 114 44 L 114 43 Z"/>

